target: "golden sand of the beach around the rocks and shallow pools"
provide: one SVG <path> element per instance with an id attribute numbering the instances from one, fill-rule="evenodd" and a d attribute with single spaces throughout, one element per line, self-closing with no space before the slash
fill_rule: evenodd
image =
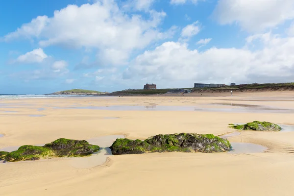
<path id="1" fill-rule="evenodd" d="M 233 98 L 220 94 L 218 97 L 0 100 L 0 134 L 4 134 L 0 138 L 0 148 L 45 144 L 58 138 L 88 140 L 122 134 L 130 139 L 146 139 L 155 134 L 180 132 L 221 135 L 232 132 L 232 129 L 227 128 L 228 123 L 254 120 L 294 124 L 294 113 L 69 108 L 150 104 L 234 107 L 207 103 L 239 103 L 294 109 L 294 93 L 240 93 Z M 0 195 L 293 195 L 294 132 L 244 131 L 228 140 L 260 144 L 269 149 L 265 153 L 247 154 L 172 152 L 119 155 L 107 158 L 103 165 L 86 169 L 74 167 L 72 160 L 67 158 L 5 163 L 0 164 Z"/>

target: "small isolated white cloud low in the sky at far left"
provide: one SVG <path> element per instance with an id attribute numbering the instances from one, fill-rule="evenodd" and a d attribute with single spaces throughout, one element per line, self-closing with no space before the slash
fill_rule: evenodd
<path id="1" fill-rule="evenodd" d="M 30 52 L 26 52 L 25 54 L 20 55 L 16 62 L 20 63 L 41 63 L 45 58 L 47 58 L 47 54 L 43 51 L 43 49 L 34 49 Z"/>

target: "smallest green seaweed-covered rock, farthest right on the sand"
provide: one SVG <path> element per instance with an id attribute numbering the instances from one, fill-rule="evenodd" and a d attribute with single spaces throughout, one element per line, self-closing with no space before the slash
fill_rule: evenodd
<path id="1" fill-rule="evenodd" d="M 254 121 L 246 124 L 229 124 L 229 127 L 239 130 L 280 131 L 282 128 L 274 123 Z"/>

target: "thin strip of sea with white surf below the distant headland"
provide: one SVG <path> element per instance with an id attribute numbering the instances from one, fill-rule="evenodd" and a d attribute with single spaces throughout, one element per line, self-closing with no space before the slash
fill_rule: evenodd
<path id="1" fill-rule="evenodd" d="M 82 95 L 24 95 L 24 94 L 0 94 L 0 99 L 22 99 L 22 98 L 71 98 L 89 97 Z"/>

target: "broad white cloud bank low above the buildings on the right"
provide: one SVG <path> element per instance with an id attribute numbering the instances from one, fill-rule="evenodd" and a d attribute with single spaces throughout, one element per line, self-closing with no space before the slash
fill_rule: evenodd
<path id="1" fill-rule="evenodd" d="M 256 51 L 211 48 L 203 52 L 185 43 L 166 42 L 145 51 L 123 73 L 131 81 L 152 81 L 161 88 L 192 86 L 194 82 L 291 82 L 294 78 L 294 37 L 258 35 Z"/>

